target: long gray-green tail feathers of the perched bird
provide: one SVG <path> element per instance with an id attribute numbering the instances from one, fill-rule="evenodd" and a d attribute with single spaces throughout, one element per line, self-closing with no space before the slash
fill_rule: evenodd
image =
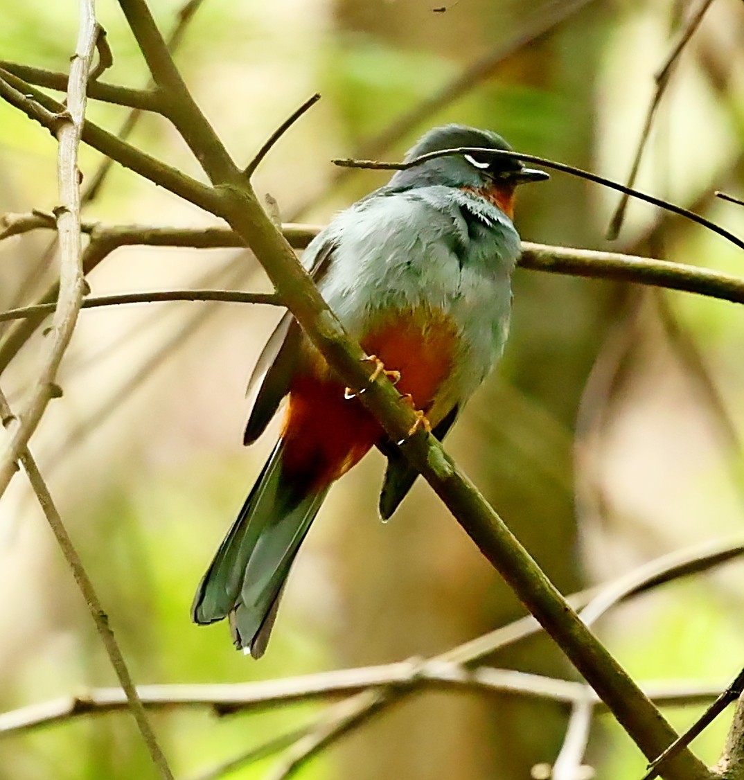
<path id="1" fill-rule="evenodd" d="M 193 622 L 229 616 L 236 647 L 260 658 L 266 650 L 285 580 L 328 492 L 312 480 L 288 480 L 278 441 L 243 509 L 232 523 L 191 608 Z"/>

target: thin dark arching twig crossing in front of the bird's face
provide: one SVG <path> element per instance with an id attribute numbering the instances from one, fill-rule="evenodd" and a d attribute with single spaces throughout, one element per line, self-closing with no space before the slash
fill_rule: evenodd
<path id="1" fill-rule="evenodd" d="M 370 170 L 381 171 L 406 171 L 408 168 L 413 168 L 416 165 L 421 165 L 428 160 L 434 160 L 440 157 L 447 157 L 452 154 L 482 154 L 488 157 L 505 157 L 513 160 L 521 160 L 523 162 L 534 162 L 537 165 L 542 165 L 544 168 L 551 168 L 554 171 L 561 171 L 569 173 L 571 176 L 578 176 L 579 179 L 586 179 L 587 181 L 602 184 L 609 187 L 611 190 L 618 190 L 618 192 L 631 195 L 639 200 L 645 200 L 647 203 L 653 204 L 666 211 L 671 211 L 681 217 L 685 217 L 692 222 L 697 222 L 698 225 L 703 225 L 707 229 L 717 233 L 719 236 L 723 236 L 728 239 L 735 246 L 739 246 L 739 249 L 744 249 L 744 240 L 739 236 L 735 236 L 732 232 L 729 232 L 721 225 L 716 225 L 715 222 L 710 222 L 709 219 L 701 217 L 698 214 L 694 214 L 692 211 L 688 211 L 686 208 L 677 206 L 670 203 L 668 200 L 663 200 L 654 195 L 648 195 L 640 190 L 634 190 L 632 187 L 625 186 L 619 182 L 615 182 L 612 179 L 606 179 L 604 176 L 599 176 L 597 173 L 591 173 L 584 171 L 582 168 L 576 168 L 574 165 L 566 165 L 563 162 L 557 162 L 554 160 L 548 160 L 543 157 L 537 157 L 535 154 L 523 154 L 517 151 L 505 151 L 502 149 L 485 149 L 482 147 L 457 147 L 452 149 L 443 149 L 441 151 L 433 151 L 429 154 L 421 154 L 408 162 L 383 162 L 379 160 L 353 160 L 349 158 L 337 159 L 332 162 L 334 165 L 340 165 L 342 168 L 369 168 Z"/>

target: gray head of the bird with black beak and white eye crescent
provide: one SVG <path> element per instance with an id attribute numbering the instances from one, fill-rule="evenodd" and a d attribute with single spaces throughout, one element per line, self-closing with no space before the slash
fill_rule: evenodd
<path id="1" fill-rule="evenodd" d="M 491 130 L 481 130 L 466 125 L 445 125 L 425 133 L 406 154 L 408 162 L 422 154 L 458 147 L 481 147 L 512 151 L 506 141 Z M 525 168 L 521 161 L 507 157 L 488 157 L 485 154 L 448 154 L 414 165 L 406 171 L 398 171 L 389 186 L 396 190 L 414 187 L 444 185 L 473 187 L 481 190 L 493 186 L 511 187 L 526 182 L 547 179 L 547 173 Z"/>

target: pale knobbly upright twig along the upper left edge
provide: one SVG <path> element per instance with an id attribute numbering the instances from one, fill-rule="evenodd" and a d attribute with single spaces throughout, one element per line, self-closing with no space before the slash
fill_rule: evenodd
<path id="1" fill-rule="evenodd" d="M 78 146 L 85 119 L 86 86 L 96 45 L 98 26 L 93 0 L 80 0 L 80 27 L 67 90 L 67 108 L 59 115 L 58 189 L 61 205 L 55 211 L 61 261 L 59 296 L 51 324 L 50 343 L 39 375 L 16 424 L 9 427 L 10 441 L 0 454 L 0 496 L 16 471 L 16 460 L 41 421 L 48 402 L 59 395 L 55 378 L 59 363 L 72 338 L 83 300 L 83 266 L 80 246 L 80 182 Z"/>

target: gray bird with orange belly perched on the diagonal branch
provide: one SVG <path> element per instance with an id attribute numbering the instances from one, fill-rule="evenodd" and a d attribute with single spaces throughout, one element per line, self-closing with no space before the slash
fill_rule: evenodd
<path id="1" fill-rule="evenodd" d="M 339 212 L 302 262 L 369 360 L 395 381 L 423 425 L 445 438 L 501 356 L 511 275 L 521 242 L 512 222 L 517 186 L 547 179 L 497 133 L 460 124 L 430 129 L 388 184 Z M 192 619 L 229 618 L 233 643 L 260 658 L 300 544 L 328 490 L 374 446 L 388 458 L 379 512 L 390 518 L 417 472 L 399 445 L 328 366 L 287 312 L 249 383 L 252 444 L 285 396 L 281 434 L 197 587 Z M 413 431 L 411 431 L 413 434 Z"/>

